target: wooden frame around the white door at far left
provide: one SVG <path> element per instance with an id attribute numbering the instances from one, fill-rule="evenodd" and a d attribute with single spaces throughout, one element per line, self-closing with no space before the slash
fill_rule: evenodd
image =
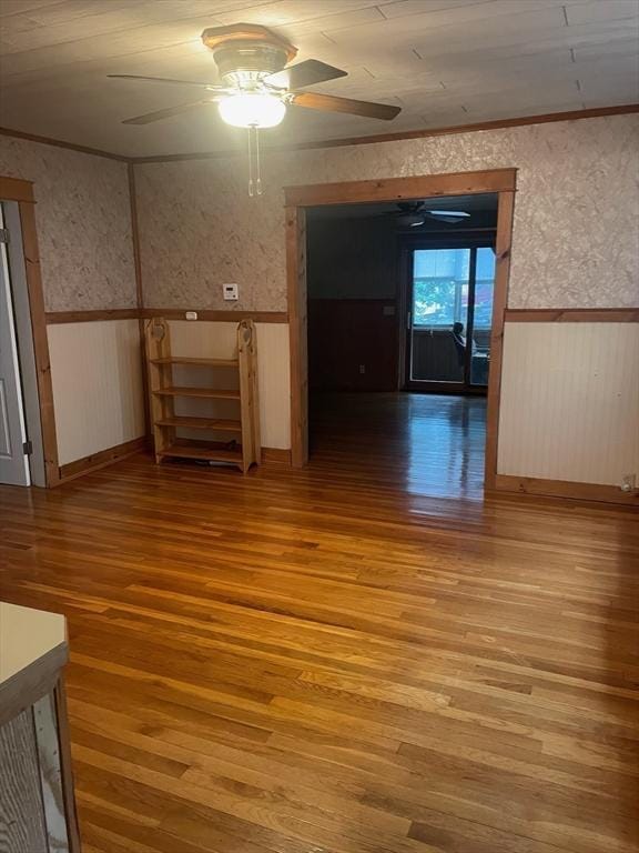
<path id="1" fill-rule="evenodd" d="M 40 274 L 40 253 L 36 230 L 36 197 L 31 181 L 18 178 L 0 177 L 0 201 L 17 201 L 22 230 L 24 270 L 29 308 L 31 311 L 31 333 L 38 378 L 38 400 L 40 407 L 40 428 L 42 430 L 42 452 L 44 455 L 44 476 L 47 486 L 60 481 L 58 464 L 58 439 L 55 435 L 55 415 L 53 411 L 53 385 L 51 382 L 51 361 L 47 338 L 47 317 L 44 294 Z"/>

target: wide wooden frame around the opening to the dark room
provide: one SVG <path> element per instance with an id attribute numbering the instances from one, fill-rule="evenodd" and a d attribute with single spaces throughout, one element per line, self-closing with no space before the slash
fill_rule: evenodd
<path id="1" fill-rule="evenodd" d="M 425 174 L 344 183 L 286 187 L 286 284 L 291 345 L 291 462 L 303 468 L 308 461 L 308 371 L 306 323 L 306 208 L 322 204 L 356 204 L 425 199 L 436 195 L 498 194 L 495 294 L 490 334 L 490 375 L 486 414 L 485 488 L 495 489 L 497 433 L 501 389 L 504 314 L 508 300 L 510 244 L 517 169 Z"/>

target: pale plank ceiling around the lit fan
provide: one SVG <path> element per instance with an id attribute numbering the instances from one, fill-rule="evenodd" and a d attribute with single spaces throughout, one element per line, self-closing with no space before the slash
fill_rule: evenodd
<path id="1" fill-rule="evenodd" d="M 200 33 L 240 21 L 348 71 L 318 91 L 403 108 L 393 122 L 297 108 L 277 143 L 639 101 L 639 0 L 0 0 L 0 124 L 125 155 L 243 144 L 215 107 L 122 126 L 193 90 L 106 79 L 215 81 Z"/>

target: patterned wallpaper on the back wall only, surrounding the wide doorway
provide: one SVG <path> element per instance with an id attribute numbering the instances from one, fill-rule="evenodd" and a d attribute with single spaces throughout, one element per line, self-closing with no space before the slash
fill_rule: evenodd
<path id="1" fill-rule="evenodd" d="M 639 305 L 639 116 L 617 116 L 265 158 L 136 167 L 150 307 L 286 310 L 282 188 L 517 167 L 511 308 Z"/>

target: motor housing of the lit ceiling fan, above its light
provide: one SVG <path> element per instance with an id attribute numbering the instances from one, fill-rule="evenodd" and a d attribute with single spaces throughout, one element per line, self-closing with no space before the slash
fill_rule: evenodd
<path id="1" fill-rule="evenodd" d="M 244 90 L 258 88 L 263 78 L 282 71 L 297 53 L 287 41 L 253 23 L 210 27 L 202 41 L 212 50 L 224 83 Z"/>

